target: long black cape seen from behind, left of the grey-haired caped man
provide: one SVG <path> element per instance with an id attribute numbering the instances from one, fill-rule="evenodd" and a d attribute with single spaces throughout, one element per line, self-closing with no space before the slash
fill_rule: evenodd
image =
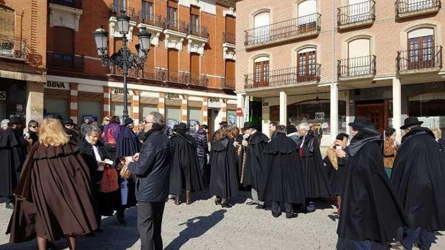
<path id="1" fill-rule="evenodd" d="M 277 134 L 264 148 L 264 154 L 268 167 L 260 200 L 305 203 L 303 172 L 295 141 L 284 134 Z"/>

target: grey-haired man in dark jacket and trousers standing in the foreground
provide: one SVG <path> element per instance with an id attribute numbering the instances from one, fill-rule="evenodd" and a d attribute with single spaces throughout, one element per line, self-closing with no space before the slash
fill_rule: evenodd
<path id="1" fill-rule="evenodd" d="M 160 113 L 150 113 L 145 123 L 147 139 L 141 148 L 141 154 L 133 157 L 136 162 L 128 164 L 128 172 L 136 176 L 141 249 L 160 250 L 162 215 L 169 187 L 171 145 L 162 131 L 165 120 Z"/>

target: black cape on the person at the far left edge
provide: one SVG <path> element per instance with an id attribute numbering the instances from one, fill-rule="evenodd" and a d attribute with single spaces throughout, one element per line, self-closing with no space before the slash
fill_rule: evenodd
<path id="1" fill-rule="evenodd" d="M 25 139 L 11 128 L 0 133 L 0 196 L 13 196 L 26 158 Z"/>

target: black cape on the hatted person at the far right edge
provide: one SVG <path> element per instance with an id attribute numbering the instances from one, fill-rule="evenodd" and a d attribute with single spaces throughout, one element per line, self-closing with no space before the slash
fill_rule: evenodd
<path id="1" fill-rule="evenodd" d="M 397 150 L 391 183 L 414 227 L 445 230 L 445 161 L 427 128 L 407 133 Z"/>

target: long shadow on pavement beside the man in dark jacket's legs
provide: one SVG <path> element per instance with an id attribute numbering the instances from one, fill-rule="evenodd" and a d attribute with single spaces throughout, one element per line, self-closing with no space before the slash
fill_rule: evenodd
<path id="1" fill-rule="evenodd" d="M 179 224 L 187 225 L 187 228 L 179 233 L 173 241 L 171 241 L 164 249 L 179 249 L 189 239 L 197 238 L 203 235 L 207 230 L 218 224 L 224 219 L 224 214 L 227 212 L 225 209 L 221 209 L 213 212 L 209 216 L 198 216 L 192 219 L 188 219 L 186 222 Z M 196 222 L 195 222 L 196 221 Z"/>

